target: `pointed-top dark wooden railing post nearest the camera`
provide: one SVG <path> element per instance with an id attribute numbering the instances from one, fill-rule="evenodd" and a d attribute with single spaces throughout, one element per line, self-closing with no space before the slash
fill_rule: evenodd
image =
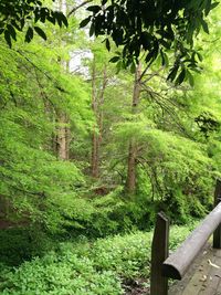
<path id="1" fill-rule="evenodd" d="M 162 276 L 162 263 L 169 254 L 169 220 L 157 214 L 151 244 L 150 295 L 167 295 L 168 278 Z"/>

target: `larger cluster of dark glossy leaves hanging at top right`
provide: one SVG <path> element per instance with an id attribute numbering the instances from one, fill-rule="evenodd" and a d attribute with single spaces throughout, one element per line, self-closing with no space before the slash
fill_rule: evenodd
<path id="1" fill-rule="evenodd" d="M 181 84 L 192 71 L 198 71 L 199 52 L 193 39 L 202 29 L 209 33 L 206 18 L 218 6 L 211 0 L 102 0 L 101 4 L 90 6 L 91 15 L 81 27 L 91 22 L 91 35 L 105 35 L 106 48 L 110 49 L 110 36 L 117 46 L 123 46 L 122 59 L 114 62 L 128 66 L 138 63 L 145 54 L 147 64 L 158 56 L 162 65 L 168 51 L 175 54 L 173 66 L 168 80 Z"/>

